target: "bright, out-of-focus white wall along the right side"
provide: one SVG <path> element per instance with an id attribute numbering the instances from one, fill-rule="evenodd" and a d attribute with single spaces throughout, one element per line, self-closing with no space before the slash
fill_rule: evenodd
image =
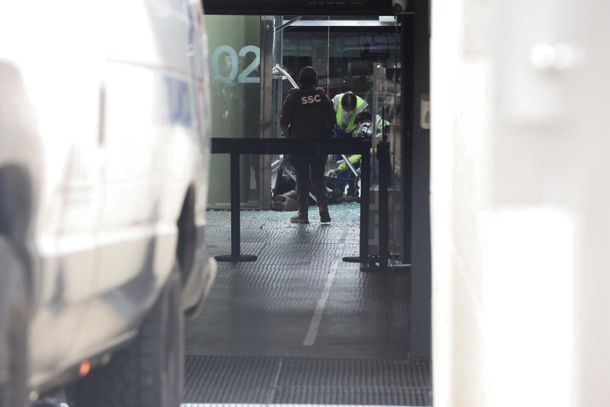
<path id="1" fill-rule="evenodd" d="M 432 2 L 435 406 L 610 403 L 608 15 Z"/>

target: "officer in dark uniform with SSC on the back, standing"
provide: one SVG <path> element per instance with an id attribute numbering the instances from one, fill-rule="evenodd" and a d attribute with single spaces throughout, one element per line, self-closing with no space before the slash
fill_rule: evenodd
<path id="1" fill-rule="evenodd" d="M 290 134 L 295 139 L 316 139 L 332 134 L 332 127 L 337 123 L 335 110 L 331 99 L 326 96 L 322 88 L 316 88 L 317 73 L 312 67 L 304 67 L 299 73 L 299 88 L 290 91 L 282 113 L 279 125 L 284 134 Z M 292 223 L 309 223 L 307 203 L 309 196 L 309 179 L 314 187 L 315 199 L 318 201 L 320 222 L 331 222 L 326 201 L 326 184 L 324 182 L 324 169 L 326 154 L 305 156 L 290 154 L 288 159 L 295 168 L 296 174 L 296 201 L 298 215 L 290 218 Z M 311 171 L 311 172 L 310 172 Z"/>

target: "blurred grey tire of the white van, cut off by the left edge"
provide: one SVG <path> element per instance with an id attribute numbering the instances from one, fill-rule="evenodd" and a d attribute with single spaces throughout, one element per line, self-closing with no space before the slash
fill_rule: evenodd
<path id="1" fill-rule="evenodd" d="M 0 236 L 0 407 L 26 405 L 27 292 L 25 273 Z"/>

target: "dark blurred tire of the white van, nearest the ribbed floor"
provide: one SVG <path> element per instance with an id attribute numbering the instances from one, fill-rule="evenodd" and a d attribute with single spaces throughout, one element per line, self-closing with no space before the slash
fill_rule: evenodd
<path id="1" fill-rule="evenodd" d="M 184 315 L 178 265 L 135 342 L 70 389 L 70 407 L 179 407 L 184 386 Z"/>

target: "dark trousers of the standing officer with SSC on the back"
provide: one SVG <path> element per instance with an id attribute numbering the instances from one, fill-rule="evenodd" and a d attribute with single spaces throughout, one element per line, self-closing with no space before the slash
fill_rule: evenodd
<path id="1" fill-rule="evenodd" d="M 315 199 L 318 207 L 326 207 L 326 184 L 324 182 L 324 170 L 328 155 L 315 154 L 304 156 L 302 154 L 290 154 L 290 164 L 295 167 L 296 175 L 296 203 L 299 212 L 306 214 L 309 209 L 309 181 L 314 187 Z"/>

